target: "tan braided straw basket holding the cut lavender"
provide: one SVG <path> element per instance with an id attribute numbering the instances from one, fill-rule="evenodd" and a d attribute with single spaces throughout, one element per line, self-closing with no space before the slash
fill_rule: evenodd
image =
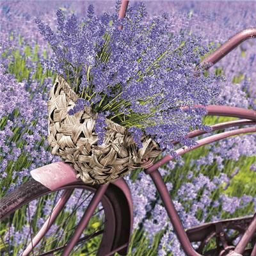
<path id="1" fill-rule="evenodd" d="M 51 88 L 48 101 L 49 127 L 47 141 L 52 154 L 72 163 L 86 184 L 105 184 L 136 168 L 147 168 L 148 159 L 160 154 L 154 140 L 142 138 L 143 147 L 138 149 L 125 127 L 106 119 L 104 143 L 97 145 L 95 133 L 97 113 L 84 106 L 83 111 L 68 115 L 78 97 L 63 77 L 58 76 Z"/>

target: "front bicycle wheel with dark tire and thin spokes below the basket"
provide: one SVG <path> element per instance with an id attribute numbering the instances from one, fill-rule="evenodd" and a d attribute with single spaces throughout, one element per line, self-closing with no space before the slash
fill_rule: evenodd
<path id="1" fill-rule="evenodd" d="M 96 189 L 77 182 L 51 191 L 30 179 L 4 196 L 0 200 L 1 255 L 61 255 Z M 113 198 L 111 191 L 104 194 L 71 255 L 114 254 L 118 221 Z"/>

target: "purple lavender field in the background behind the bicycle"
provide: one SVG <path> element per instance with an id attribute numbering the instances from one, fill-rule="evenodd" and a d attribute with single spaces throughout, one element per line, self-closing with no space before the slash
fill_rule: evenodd
<path id="1" fill-rule="evenodd" d="M 193 34 L 197 37 L 196 42 L 191 44 L 202 45 L 209 52 L 235 33 L 245 28 L 256 28 L 255 1 L 144 3 L 147 10 L 145 22 L 166 12 L 164 17 L 166 24 L 170 25 L 170 33 L 182 35 L 188 41 Z M 51 154 L 46 140 L 48 93 L 57 76 L 52 67 L 56 67 L 58 61 L 41 35 L 35 19 L 57 29 L 58 9 L 67 16 L 76 13 L 78 19 L 82 20 L 88 15 L 89 4 L 89 1 L 17 0 L 0 3 L 1 197 L 28 180 L 31 170 L 60 161 L 58 156 Z M 93 1 L 97 14 L 115 12 L 115 4 L 115 1 Z M 139 6 L 137 1 L 130 4 L 135 8 Z M 188 58 L 192 58 L 189 54 L 188 49 Z M 256 110 L 255 67 L 256 40 L 250 39 L 211 68 L 210 73 L 224 78 L 218 81 L 219 104 Z M 126 71 L 132 72 L 132 67 L 129 68 Z M 204 119 L 205 124 L 211 125 L 234 118 L 207 116 Z M 182 159 L 166 164 L 160 171 L 185 228 L 246 216 L 256 211 L 256 134 L 236 136 L 198 148 L 185 154 Z M 135 170 L 124 179 L 131 189 L 134 204 L 129 255 L 185 255 L 149 177 L 141 170 Z M 76 196 L 70 198 L 70 209 Z M 32 215 L 38 211 L 47 214 L 52 200 L 48 198 L 46 205 L 37 208 L 31 205 Z M 81 217 L 83 209 L 77 211 L 77 218 Z M 27 212 L 23 214 L 24 218 L 17 219 L 16 226 L 11 228 L 12 255 L 19 255 L 22 249 L 19 244 L 28 239 L 22 236 L 28 228 Z M 77 223 L 76 218 L 72 221 Z M 100 214 L 93 221 L 98 225 Z M 56 230 L 57 225 L 47 234 L 51 236 Z M 1 236 L 4 236 L 4 232 L 6 230 L 1 229 Z M 77 249 L 74 255 L 93 255 L 93 243 L 91 247 Z M 3 241 L 0 241 L 0 250 L 3 248 Z"/>

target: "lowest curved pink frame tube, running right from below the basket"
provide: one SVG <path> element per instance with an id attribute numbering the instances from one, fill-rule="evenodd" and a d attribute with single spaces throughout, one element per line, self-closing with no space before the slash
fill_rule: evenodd
<path id="1" fill-rule="evenodd" d="M 198 148 L 198 147 L 202 147 L 202 146 L 212 143 L 214 141 L 223 140 L 225 138 L 228 138 L 228 137 L 234 136 L 234 135 L 238 135 L 238 134 L 252 133 L 252 132 L 256 132 L 256 127 L 248 127 L 248 128 L 236 129 L 233 131 L 222 132 L 220 134 L 214 134 L 214 135 L 204 138 L 202 140 L 198 140 L 196 145 L 193 147 L 179 148 L 178 150 L 176 150 L 176 153 L 178 156 L 182 156 L 186 152 L 194 150 L 195 148 Z M 157 163 L 153 164 L 152 166 L 150 166 L 150 168 L 145 170 L 145 173 L 150 174 L 150 173 L 156 171 L 161 165 L 168 163 L 172 159 L 173 159 L 173 156 L 163 157 L 163 159 L 159 160 Z"/>

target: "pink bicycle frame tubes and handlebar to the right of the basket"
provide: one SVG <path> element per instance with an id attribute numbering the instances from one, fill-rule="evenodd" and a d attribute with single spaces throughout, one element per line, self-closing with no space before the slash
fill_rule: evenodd
<path id="1" fill-rule="evenodd" d="M 224 56 L 228 54 L 228 52 L 232 51 L 237 45 L 241 44 L 246 39 L 249 38 L 255 38 L 256 37 L 256 28 L 250 28 L 245 29 L 244 31 L 241 31 L 240 33 L 237 33 L 236 35 L 232 36 L 225 44 L 221 45 L 220 48 L 218 48 L 216 51 L 214 51 L 211 55 L 209 55 L 207 58 L 205 58 L 200 65 L 204 67 L 205 69 L 212 67 L 215 63 L 220 61 Z M 236 118 L 247 118 L 248 120 L 236 120 L 232 122 L 226 122 L 223 124 L 217 124 L 213 125 L 212 130 L 215 129 L 224 129 L 227 127 L 232 127 L 233 125 L 245 125 L 245 124 L 256 124 L 256 111 L 243 109 L 243 108 L 233 108 L 228 106 L 207 106 L 208 115 L 215 115 L 215 116 L 232 116 Z M 186 152 L 189 152 L 195 148 L 202 147 L 205 144 L 212 143 L 214 141 L 222 140 L 223 138 L 227 138 L 229 136 L 234 136 L 237 134 L 243 134 L 248 132 L 256 132 L 256 127 L 248 127 L 243 129 L 236 129 L 233 131 L 223 132 L 221 134 L 216 134 L 213 136 L 209 136 L 207 138 L 204 138 L 200 141 L 198 141 L 198 144 L 194 147 L 188 148 L 180 148 L 177 150 L 178 155 L 182 155 Z M 200 134 L 203 134 L 205 132 L 203 131 L 194 131 L 191 132 L 189 137 L 195 137 Z M 166 188 L 166 185 L 163 182 L 163 179 L 161 178 L 161 175 L 157 168 L 159 168 L 164 163 L 167 163 L 168 161 L 172 160 L 172 156 L 166 156 L 157 163 L 153 164 L 145 170 L 145 173 L 149 174 L 152 180 L 154 181 L 154 184 L 157 187 L 157 191 L 159 192 L 161 199 L 163 200 L 164 207 L 166 208 L 166 211 L 168 212 L 168 216 L 172 222 L 173 229 L 175 230 L 175 233 L 177 234 L 177 237 L 180 241 L 180 244 L 182 245 L 182 248 L 184 252 L 189 256 L 200 256 L 197 252 L 195 252 L 194 248 L 191 246 L 191 243 L 189 241 L 188 235 L 186 234 L 184 227 L 182 226 L 182 223 L 180 221 L 179 215 L 177 214 L 177 211 L 175 210 L 175 207 L 173 205 L 172 199 L 170 198 L 168 189 Z M 239 243 L 237 244 L 234 251 L 230 252 L 228 255 L 230 256 L 238 256 L 241 255 L 240 253 L 244 252 L 244 249 L 246 247 L 246 244 L 250 241 L 250 237 L 254 234 L 256 231 L 256 214 L 253 217 L 252 223 L 244 233 L 243 237 L 241 237 Z M 256 247 L 253 248 L 253 252 L 256 250 Z M 241 255 L 242 256 L 242 255 Z"/>

